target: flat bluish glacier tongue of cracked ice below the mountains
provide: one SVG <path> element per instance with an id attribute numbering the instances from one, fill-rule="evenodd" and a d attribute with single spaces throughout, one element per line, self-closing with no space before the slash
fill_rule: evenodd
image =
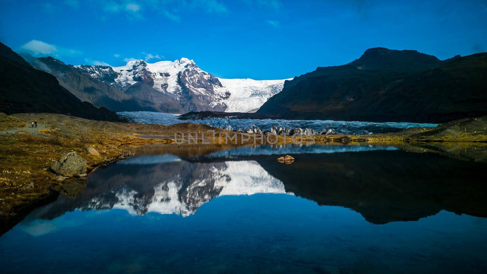
<path id="1" fill-rule="evenodd" d="M 285 119 L 226 119 L 208 118 L 196 120 L 179 120 L 179 115 L 159 112 L 118 112 L 118 115 L 128 117 L 132 122 L 143 124 L 172 125 L 177 123 L 192 122 L 205 124 L 216 128 L 228 129 L 238 132 L 246 132 L 250 129 L 269 131 L 273 126 L 286 128 L 310 128 L 317 132 L 335 129 L 343 134 L 356 134 L 362 130 L 370 133 L 397 132 L 412 127 L 436 127 L 438 124 L 408 123 L 408 122 L 359 122 L 359 121 L 333 121 L 333 120 L 285 120 Z"/>

